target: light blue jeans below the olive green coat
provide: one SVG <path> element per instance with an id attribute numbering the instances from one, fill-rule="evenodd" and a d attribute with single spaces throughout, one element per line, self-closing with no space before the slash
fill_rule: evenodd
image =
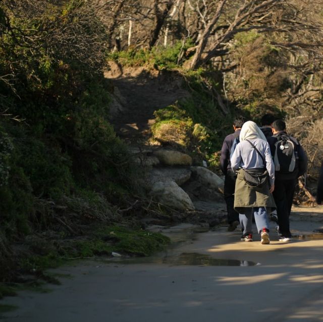
<path id="1" fill-rule="evenodd" d="M 244 235 L 252 234 L 252 215 L 254 215 L 259 234 L 262 231 L 262 228 L 266 228 L 269 231 L 266 209 L 264 207 L 254 207 L 250 208 L 250 211 L 246 214 L 239 214 L 240 225 Z"/>

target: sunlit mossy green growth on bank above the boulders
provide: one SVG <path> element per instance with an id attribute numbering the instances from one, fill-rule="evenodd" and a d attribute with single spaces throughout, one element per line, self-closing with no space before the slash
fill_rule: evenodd
<path id="1" fill-rule="evenodd" d="M 175 141 L 176 144 L 184 146 L 186 152 L 194 158 L 194 162 L 200 163 L 202 159 L 208 164 L 215 165 L 214 153 L 221 149 L 223 138 L 232 129 L 234 113 L 223 114 L 214 100 L 209 86 L 221 92 L 219 83 L 221 76 L 217 73 L 207 73 L 203 69 L 185 73 L 186 89 L 191 96 L 179 100 L 176 104 L 154 112 L 156 122 L 152 126 L 152 132 L 158 141 L 167 143 Z M 170 133 L 175 136 L 180 129 L 180 139 L 176 140 L 168 134 L 167 126 L 163 135 L 158 135 L 158 129 L 163 124 L 170 124 Z M 172 125 L 172 126 L 171 126 Z M 185 131 L 184 131 L 185 130 Z M 160 139 L 158 139 L 160 137 Z M 184 139 L 185 137 L 185 139 Z"/>

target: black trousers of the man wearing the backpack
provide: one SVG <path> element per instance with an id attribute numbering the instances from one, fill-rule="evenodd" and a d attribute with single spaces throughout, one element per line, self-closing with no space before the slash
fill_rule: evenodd
<path id="1" fill-rule="evenodd" d="M 279 231 L 284 237 L 291 237 L 289 216 L 291 214 L 296 178 L 275 180 L 273 196 L 277 206 Z"/>

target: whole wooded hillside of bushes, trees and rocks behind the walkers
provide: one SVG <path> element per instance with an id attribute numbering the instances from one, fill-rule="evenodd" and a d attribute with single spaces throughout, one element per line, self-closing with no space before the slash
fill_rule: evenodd
<path id="1" fill-rule="evenodd" d="M 192 220 L 196 201 L 222 198 L 218 152 L 239 115 L 286 119 L 315 194 L 320 6 L 1 2 L 0 279 L 117 246 L 160 249 L 168 241 L 144 220 Z M 158 196 L 169 187 L 177 208 Z"/>

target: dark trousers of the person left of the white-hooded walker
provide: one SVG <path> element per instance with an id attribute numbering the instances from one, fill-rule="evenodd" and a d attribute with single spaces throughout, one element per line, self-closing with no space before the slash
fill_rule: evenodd
<path id="1" fill-rule="evenodd" d="M 229 169 L 224 179 L 224 199 L 227 204 L 228 223 L 239 221 L 239 213 L 234 210 L 234 189 L 236 186 L 237 176 Z"/>

